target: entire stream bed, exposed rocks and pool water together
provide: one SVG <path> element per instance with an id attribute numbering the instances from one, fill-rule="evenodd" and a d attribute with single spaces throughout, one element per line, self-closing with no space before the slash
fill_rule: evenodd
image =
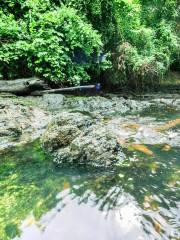
<path id="1" fill-rule="evenodd" d="M 179 239 L 179 103 L 1 95 L 0 239 Z"/>

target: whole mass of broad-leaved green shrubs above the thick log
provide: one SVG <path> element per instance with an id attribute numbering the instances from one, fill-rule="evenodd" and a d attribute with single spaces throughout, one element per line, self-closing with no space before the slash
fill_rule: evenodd
<path id="1" fill-rule="evenodd" d="M 26 72 L 30 70 L 58 85 L 89 80 L 88 71 L 99 64 L 102 49 L 101 37 L 90 24 L 65 6 L 44 13 L 31 11 L 25 19 L 1 16 L 1 72 L 6 65 L 10 71 L 11 65 L 23 61 Z M 13 75 L 10 72 L 8 77 Z"/>

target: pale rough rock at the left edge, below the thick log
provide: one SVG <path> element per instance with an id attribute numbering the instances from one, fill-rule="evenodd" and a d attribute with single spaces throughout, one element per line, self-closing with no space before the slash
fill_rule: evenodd
<path id="1" fill-rule="evenodd" d="M 26 105 L 25 100 L 0 97 L 0 154 L 39 138 L 49 119 L 46 112 Z"/>

